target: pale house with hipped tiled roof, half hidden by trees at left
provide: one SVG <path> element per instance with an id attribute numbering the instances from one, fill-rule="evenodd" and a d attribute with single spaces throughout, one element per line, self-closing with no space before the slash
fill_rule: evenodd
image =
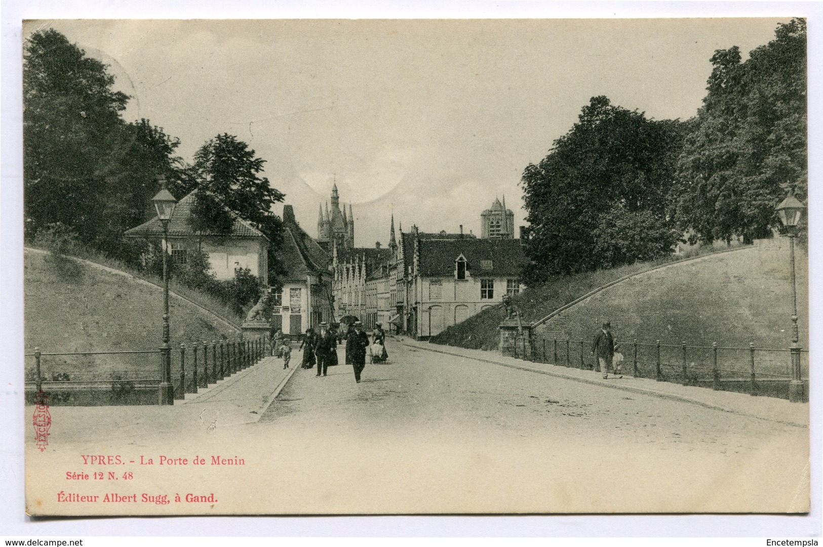
<path id="1" fill-rule="evenodd" d="M 239 216 L 234 216 L 229 234 L 192 229 L 190 220 L 195 192 L 190 192 L 177 203 L 169 221 L 166 249 L 171 254 L 172 262 L 187 262 L 188 252 L 197 249 L 208 254 L 209 265 L 218 280 L 233 279 L 235 270 L 249 268 L 263 285 L 267 285 L 268 248 L 271 242 L 266 235 Z M 123 235 L 127 238 L 162 239 L 163 225 L 154 216 L 142 225 L 126 230 Z"/>

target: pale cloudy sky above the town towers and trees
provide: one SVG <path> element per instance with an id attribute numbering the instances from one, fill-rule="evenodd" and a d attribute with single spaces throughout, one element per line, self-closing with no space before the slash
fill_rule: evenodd
<path id="1" fill-rule="evenodd" d="M 594 95 L 651 118 L 689 118 L 715 49 L 746 54 L 780 19 L 475 21 L 30 21 L 109 64 L 148 118 L 191 160 L 229 132 L 267 161 L 316 234 L 332 181 L 356 244 L 407 229 L 480 232 L 520 175 Z M 281 206 L 277 207 L 280 214 Z"/>

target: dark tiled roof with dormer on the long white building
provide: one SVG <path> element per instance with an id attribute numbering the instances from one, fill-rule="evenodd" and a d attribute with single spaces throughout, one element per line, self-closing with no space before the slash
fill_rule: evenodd
<path id="1" fill-rule="evenodd" d="M 454 261 L 461 254 L 472 277 L 518 276 L 528 262 L 520 239 L 421 239 L 420 273 L 453 275 Z M 491 269 L 481 269 L 481 261 L 491 261 Z"/>

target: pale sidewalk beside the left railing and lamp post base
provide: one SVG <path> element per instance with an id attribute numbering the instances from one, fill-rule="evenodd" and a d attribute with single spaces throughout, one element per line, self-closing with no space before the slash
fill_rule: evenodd
<path id="1" fill-rule="evenodd" d="M 283 369 L 282 359 L 265 357 L 211 387 L 188 393 L 173 406 L 52 406 L 49 444 L 188 436 L 253 424 L 298 368 L 300 359 L 292 359 L 291 369 Z M 26 434 L 33 408 L 26 406 Z"/>

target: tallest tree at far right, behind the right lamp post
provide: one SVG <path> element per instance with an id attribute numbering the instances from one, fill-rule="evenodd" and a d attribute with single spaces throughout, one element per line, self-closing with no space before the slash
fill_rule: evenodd
<path id="1" fill-rule="evenodd" d="M 778 25 L 741 60 L 737 46 L 714 53 L 679 158 L 671 212 L 692 239 L 768 237 L 787 188 L 807 194 L 806 22 Z"/>

